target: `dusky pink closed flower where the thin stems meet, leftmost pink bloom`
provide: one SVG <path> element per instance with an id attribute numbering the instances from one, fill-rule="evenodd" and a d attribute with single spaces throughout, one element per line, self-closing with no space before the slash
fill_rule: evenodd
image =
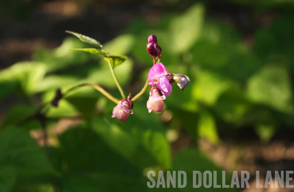
<path id="1" fill-rule="evenodd" d="M 129 114 L 133 114 L 131 110 L 133 108 L 133 103 L 129 99 L 122 99 L 119 101 L 117 106 L 113 108 L 112 118 L 116 117 L 122 122 L 125 122 L 129 116 Z"/>

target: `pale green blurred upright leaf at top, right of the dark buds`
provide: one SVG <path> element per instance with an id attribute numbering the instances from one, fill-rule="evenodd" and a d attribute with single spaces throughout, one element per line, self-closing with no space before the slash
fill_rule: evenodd
<path id="1" fill-rule="evenodd" d="M 204 7 L 201 4 L 191 6 L 184 14 L 170 23 L 170 42 L 173 42 L 173 52 L 183 53 L 191 48 L 199 38 L 204 17 Z"/>

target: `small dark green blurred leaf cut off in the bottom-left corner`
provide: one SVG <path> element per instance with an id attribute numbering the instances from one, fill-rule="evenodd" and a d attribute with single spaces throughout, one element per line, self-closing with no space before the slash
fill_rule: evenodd
<path id="1" fill-rule="evenodd" d="M 12 166 L 0 167 L 0 191 L 11 191 L 16 182 L 16 170 Z"/>

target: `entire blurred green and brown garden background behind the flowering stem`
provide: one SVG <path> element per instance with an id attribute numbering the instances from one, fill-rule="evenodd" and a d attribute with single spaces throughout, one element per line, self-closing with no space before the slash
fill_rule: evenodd
<path id="1" fill-rule="evenodd" d="M 0 191 L 257 191 L 254 174 L 294 170 L 294 2 L 33 1 L 0 3 Z M 81 88 L 36 117 L 57 88 L 90 82 L 119 98 L 103 57 L 64 33 L 128 59 L 115 71 L 141 90 L 156 34 L 168 71 L 190 84 L 148 113 L 148 91 L 125 123 Z M 147 171 L 187 172 L 187 187 L 149 189 Z M 192 171 L 250 172 L 249 189 L 192 188 Z M 239 172 L 240 173 L 240 172 Z M 190 180 L 189 180 L 190 179 Z M 293 184 L 293 183 L 292 183 Z M 270 189 L 258 189 L 270 191 Z M 275 189 L 290 191 L 291 189 Z"/>

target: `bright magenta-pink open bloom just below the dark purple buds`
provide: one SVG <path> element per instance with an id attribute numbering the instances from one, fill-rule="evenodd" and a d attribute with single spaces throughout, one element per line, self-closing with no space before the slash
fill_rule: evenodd
<path id="1" fill-rule="evenodd" d="M 153 67 L 151 67 L 148 79 L 149 79 L 149 85 L 155 85 L 160 89 L 160 91 L 164 95 L 170 95 L 172 88 L 171 84 L 168 81 L 169 73 L 164 67 L 162 63 L 155 64 Z"/>

